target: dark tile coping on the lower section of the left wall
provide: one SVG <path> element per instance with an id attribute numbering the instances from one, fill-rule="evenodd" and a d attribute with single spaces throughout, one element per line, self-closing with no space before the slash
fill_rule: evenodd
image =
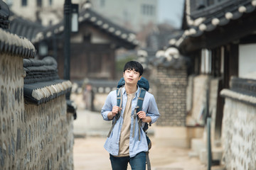
<path id="1" fill-rule="evenodd" d="M 59 79 L 53 57 L 23 59 L 23 69 L 26 71 L 23 91 L 27 103 L 40 105 L 71 91 L 71 82 Z"/>

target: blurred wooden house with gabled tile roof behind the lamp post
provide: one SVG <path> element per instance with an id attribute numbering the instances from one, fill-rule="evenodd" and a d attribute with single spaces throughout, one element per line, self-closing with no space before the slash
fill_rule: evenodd
<path id="1" fill-rule="evenodd" d="M 121 47 L 134 49 L 138 44 L 136 36 L 99 15 L 88 4 L 80 9 L 78 21 L 79 31 L 71 35 L 70 79 L 115 79 L 115 52 Z M 65 69 L 63 30 L 63 23 L 58 23 L 38 33 L 33 40 L 39 58 L 46 55 L 56 58 L 60 77 Z"/>

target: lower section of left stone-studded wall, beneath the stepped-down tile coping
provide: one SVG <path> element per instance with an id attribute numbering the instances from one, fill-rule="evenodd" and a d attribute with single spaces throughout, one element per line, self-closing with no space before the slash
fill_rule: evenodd
<path id="1" fill-rule="evenodd" d="M 17 169 L 73 169 L 73 115 L 67 114 L 65 96 L 40 106 L 25 104 L 17 125 L 17 154 L 26 155 L 17 158 Z"/>

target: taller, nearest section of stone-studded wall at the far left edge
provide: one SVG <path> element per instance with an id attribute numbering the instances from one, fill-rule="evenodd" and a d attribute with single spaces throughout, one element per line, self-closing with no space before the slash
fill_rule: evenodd
<path id="1" fill-rule="evenodd" d="M 0 57 L 0 169 L 16 167 L 17 123 L 24 120 L 23 58 L 1 53 Z M 24 157 L 24 154 L 20 156 Z"/>

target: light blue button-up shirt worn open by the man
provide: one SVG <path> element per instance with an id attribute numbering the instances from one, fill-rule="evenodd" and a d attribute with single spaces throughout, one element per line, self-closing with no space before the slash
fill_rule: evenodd
<path id="1" fill-rule="evenodd" d="M 137 106 L 137 100 L 139 97 L 139 86 L 136 91 L 135 97 L 132 99 L 132 113 L 131 113 L 131 128 L 130 128 L 130 134 L 129 134 L 129 157 L 134 157 L 139 152 L 147 152 L 148 151 L 148 145 L 146 142 L 146 134 L 141 129 L 141 140 L 139 140 L 139 125 L 135 123 L 135 130 L 134 130 L 134 137 L 132 137 L 132 130 L 134 125 L 134 109 Z M 107 152 L 112 154 L 113 156 L 118 156 L 119 152 L 119 139 L 122 129 L 122 123 L 123 123 L 123 115 L 124 115 L 124 109 L 127 103 L 127 93 L 124 87 L 122 87 L 122 111 L 121 116 L 117 120 L 117 123 L 114 125 L 114 128 L 111 132 L 110 137 L 107 137 L 107 141 L 105 142 L 105 149 Z M 107 118 L 107 113 L 110 113 L 112 111 L 112 107 L 117 106 L 117 91 L 111 91 L 110 94 L 107 96 L 107 100 L 105 101 L 104 106 L 102 107 L 102 117 L 104 120 L 109 120 Z M 142 111 L 146 113 L 146 116 L 151 117 L 151 123 L 155 123 L 157 118 L 159 118 L 159 111 L 156 106 L 156 100 L 152 94 L 149 94 L 149 92 L 146 91 L 143 105 L 142 105 Z M 136 114 L 136 113 L 135 113 Z M 142 123 L 142 127 L 145 123 Z M 140 127 L 140 128 L 142 128 Z"/>

